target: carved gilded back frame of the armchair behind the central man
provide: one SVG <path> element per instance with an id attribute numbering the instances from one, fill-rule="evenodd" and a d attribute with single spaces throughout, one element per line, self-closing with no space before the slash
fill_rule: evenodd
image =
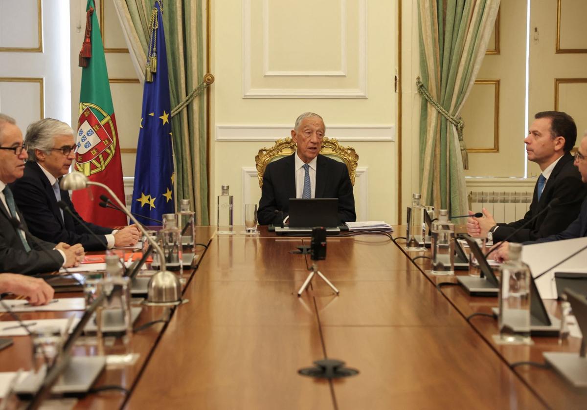
<path id="1" fill-rule="evenodd" d="M 286 157 L 295 153 L 296 143 L 291 138 L 282 138 L 275 141 L 271 148 L 261 148 L 259 153 L 255 155 L 255 167 L 257 167 L 257 177 L 259 178 L 259 187 L 263 187 L 263 174 L 265 168 L 274 160 L 275 157 Z M 350 183 L 355 185 L 355 177 L 357 173 L 357 164 L 359 163 L 359 155 L 355 152 L 355 148 L 343 147 L 339 145 L 334 138 L 330 139 L 324 137 L 322 139 L 322 148 L 320 150 L 322 155 L 333 156 L 340 158 L 349 170 Z"/>

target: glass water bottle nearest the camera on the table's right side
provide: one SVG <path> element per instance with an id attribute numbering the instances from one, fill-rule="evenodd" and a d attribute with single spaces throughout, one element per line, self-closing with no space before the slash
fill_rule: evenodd
<path id="1" fill-rule="evenodd" d="M 507 344 L 531 344 L 530 268 L 522 262 L 522 245 L 510 243 L 510 260 L 501 265 L 499 290 L 500 334 L 496 340 Z"/>

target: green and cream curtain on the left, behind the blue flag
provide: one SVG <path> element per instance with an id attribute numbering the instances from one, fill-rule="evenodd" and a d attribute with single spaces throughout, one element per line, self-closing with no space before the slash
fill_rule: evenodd
<path id="1" fill-rule="evenodd" d="M 149 21 L 153 0 L 114 0 L 136 67 L 144 70 L 149 46 Z M 204 77 L 204 0 L 163 2 L 163 23 L 167 45 L 167 65 L 171 107 L 177 107 Z M 144 73 L 141 74 L 144 80 Z M 198 225 L 208 218 L 208 138 L 206 134 L 205 93 L 200 93 L 171 120 L 176 164 L 176 204 L 190 199 Z"/>

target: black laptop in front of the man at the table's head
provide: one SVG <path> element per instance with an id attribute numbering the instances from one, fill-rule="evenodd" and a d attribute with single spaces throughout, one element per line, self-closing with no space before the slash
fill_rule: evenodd
<path id="1" fill-rule="evenodd" d="M 275 226 L 275 233 L 312 233 L 315 226 L 323 226 L 330 235 L 340 232 L 338 198 L 290 198 L 289 225 Z"/>

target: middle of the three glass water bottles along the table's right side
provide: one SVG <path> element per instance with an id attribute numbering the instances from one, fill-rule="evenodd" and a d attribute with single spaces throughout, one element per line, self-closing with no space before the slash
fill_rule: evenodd
<path id="1" fill-rule="evenodd" d="M 446 209 L 440 209 L 438 219 L 432 222 L 431 236 L 433 275 L 454 275 L 454 224 Z"/>

